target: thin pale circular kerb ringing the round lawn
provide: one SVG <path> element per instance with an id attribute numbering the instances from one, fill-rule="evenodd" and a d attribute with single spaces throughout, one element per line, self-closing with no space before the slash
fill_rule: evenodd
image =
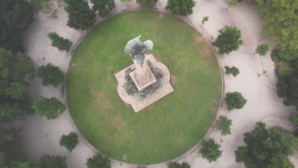
<path id="1" fill-rule="evenodd" d="M 115 16 L 115 15 L 117 15 L 117 14 L 120 14 L 120 13 L 124 13 L 124 12 L 128 12 L 128 11 L 133 11 L 133 10 L 155 10 L 155 11 L 164 12 L 164 13 L 168 13 L 168 14 L 173 15 L 172 13 L 170 13 L 170 12 L 168 12 L 168 11 L 159 10 L 159 9 L 132 8 L 132 9 L 124 9 L 124 10 L 118 12 L 118 13 L 115 13 L 115 14 L 109 16 L 108 18 L 110 18 L 110 17 L 112 17 L 112 16 Z M 215 121 L 216 121 L 216 119 L 217 119 L 218 116 L 219 116 L 221 107 L 223 106 L 223 97 L 224 97 L 224 75 L 223 75 L 223 72 L 222 72 L 221 63 L 219 62 L 219 59 L 218 59 L 218 54 L 215 52 L 214 48 L 212 47 L 212 45 L 210 44 L 210 42 L 207 40 L 207 38 L 204 36 L 204 34 L 203 34 L 198 28 L 196 28 L 193 24 L 191 24 L 191 23 L 189 23 L 188 21 L 186 21 L 184 18 L 179 17 L 179 16 L 176 16 L 176 15 L 173 15 L 173 16 L 180 18 L 180 19 L 183 20 L 185 23 L 187 23 L 187 24 L 189 24 L 190 26 L 192 26 L 193 28 L 195 28 L 195 29 L 196 29 L 196 30 L 197 30 L 197 31 L 204 37 L 204 39 L 207 41 L 207 43 L 209 44 L 209 46 L 212 48 L 212 51 L 213 51 L 213 53 L 214 53 L 215 56 L 216 56 L 216 59 L 217 59 L 217 62 L 218 62 L 219 68 L 220 68 L 221 78 L 222 78 L 222 96 L 221 96 L 221 103 L 220 103 L 220 107 L 219 107 L 219 109 L 218 109 L 217 115 L 216 115 L 216 117 L 215 117 L 215 120 L 213 121 L 213 123 L 212 123 L 210 129 L 208 130 L 208 132 L 206 133 L 206 135 L 202 138 L 202 140 L 204 140 L 204 139 L 207 137 L 207 135 L 209 135 L 209 133 L 211 132 L 211 130 L 214 128 Z M 106 18 L 106 19 L 108 19 L 108 18 Z M 93 28 L 95 28 L 98 24 L 100 24 L 100 23 L 101 23 L 102 21 L 104 21 L 104 20 L 105 20 L 105 19 L 98 21 L 98 22 L 95 24 L 94 27 L 90 28 L 89 30 L 86 30 L 86 31 L 82 34 L 82 36 L 81 36 L 81 37 L 79 38 L 79 40 L 75 43 L 75 46 L 73 47 L 73 49 L 72 49 L 72 51 L 71 51 L 71 57 L 73 56 L 76 47 L 77 47 L 78 44 L 81 42 L 81 40 L 86 36 L 86 34 L 87 34 L 90 30 L 92 30 Z M 70 119 L 71 119 L 72 124 L 74 125 L 76 131 L 79 133 L 79 136 L 84 140 L 84 142 L 85 142 L 90 148 L 92 148 L 95 152 L 104 155 L 104 154 L 101 153 L 99 150 L 97 150 L 95 147 L 93 147 L 93 146 L 92 146 L 92 145 L 85 139 L 85 137 L 80 133 L 80 131 L 79 131 L 79 130 L 77 129 L 77 127 L 75 126 L 75 122 L 74 122 L 74 120 L 73 120 L 73 118 L 72 118 L 72 116 L 71 116 L 71 113 L 69 112 L 68 104 L 67 104 L 67 98 L 66 98 L 66 76 L 67 76 L 67 72 L 68 72 L 68 68 L 69 68 L 69 64 L 70 64 L 70 62 L 71 62 L 71 59 L 70 59 L 70 61 L 68 62 L 68 67 L 67 67 L 67 69 L 66 69 L 67 71 L 66 71 L 66 73 L 65 73 L 65 80 L 64 80 L 64 99 L 65 99 L 65 103 L 66 103 L 66 111 L 69 113 L 69 116 L 70 116 Z M 130 165 L 130 166 L 145 166 L 145 167 L 147 167 L 147 166 L 159 166 L 159 165 L 165 165 L 165 164 L 168 164 L 168 163 L 170 163 L 170 162 L 175 162 L 175 161 L 181 159 L 182 157 L 184 157 L 185 155 L 191 153 L 193 150 L 195 150 L 197 147 L 199 147 L 200 142 L 201 142 L 202 140 L 200 140 L 200 141 L 199 141 L 193 148 L 191 148 L 189 151 L 187 151 L 187 152 L 184 153 L 183 155 L 181 155 L 181 156 L 179 156 L 179 157 L 177 157 L 177 158 L 175 158 L 175 159 L 172 159 L 172 160 L 170 160 L 170 161 L 166 161 L 166 162 L 159 163 L 159 164 L 153 164 L 153 165 L 133 165 L 133 164 L 128 164 L 128 163 L 124 163 L 124 162 L 115 160 L 115 159 L 110 158 L 110 157 L 109 157 L 109 159 L 110 159 L 111 161 L 113 161 L 113 162 L 117 162 L 117 163 L 122 164 L 122 165 Z M 104 156 L 106 156 L 106 155 L 104 155 Z"/>

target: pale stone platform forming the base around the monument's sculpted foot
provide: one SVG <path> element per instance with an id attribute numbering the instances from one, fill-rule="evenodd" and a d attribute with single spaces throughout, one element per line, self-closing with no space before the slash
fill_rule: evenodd
<path id="1" fill-rule="evenodd" d="M 158 88 L 157 90 L 155 90 L 154 93 L 149 94 L 148 96 L 142 99 L 137 99 L 133 95 L 128 95 L 124 90 L 124 84 L 126 83 L 126 80 L 124 77 L 125 70 L 128 68 L 135 69 L 136 68 L 135 64 L 132 64 L 124 68 L 122 71 L 115 74 L 115 77 L 118 81 L 118 94 L 125 103 L 131 105 L 134 112 L 141 111 L 142 109 L 146 108 L 147 106 L 151 105 L 152 103 L 156 102 L 157 100 L 161 99 L 162 97 L 174 91 L 172 85 L 170 84 L 171 75 L 166 65 L 156 61 L 155 57 L 152 54 L 145 55 L 144 62 L 149 62 L 151 66 L 162 70 L 164 76 L 162 78 L 162 82 L 163 82 L 162 87 Z"/>

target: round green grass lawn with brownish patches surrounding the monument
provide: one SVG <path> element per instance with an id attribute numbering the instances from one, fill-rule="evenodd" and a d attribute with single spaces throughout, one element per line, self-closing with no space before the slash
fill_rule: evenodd
<path id="1" fill-rule="evenodd" d="M 153 41 L 149 52 L 169 68 L 174 92 L 135 113 L 120 99 L 114 74 L 133 63 L 123 50 L 138 35 Z M 149 165 L 174 159 L 194 147 L 216 117 L 214 100 L 220 102 L 222 94 L 217 59 L 195 28 L 170 14 L 113 16 L 82 39 L 71 62 L 76 67 L 69 67 L 66 94 L 75 125 L 116 160 Z"/>

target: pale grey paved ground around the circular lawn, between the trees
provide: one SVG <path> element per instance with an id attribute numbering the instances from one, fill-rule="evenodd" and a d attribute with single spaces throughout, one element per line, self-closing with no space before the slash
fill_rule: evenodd
<path id="1" fill-rule="evenodd" d="M 166 0 L 159 0 L 157 8 L 164 10 Z M 129 4 L 116 0 L 116 8 L 113 13 L 118 13 L 124 9 L 139 7 L 133 0 Z M 293 126 L 287 121 L 291 112 L 295 108 L 285 107 L 282 99 L 277 97 L 276 82 L 274 76 L 274 65 L 270 56 L 262 57 L 254 55 L 254 50 L 260 43 L 269 43 L 271 49 L 274 42 L 266 39 L 262 33 L 263 21 L 259 19 L 258 12 L 253 4 L 244 2 L 236 8 L 225 10 L 226 4 L 222 0 L 197 0 L 194 7 L 194 13 L 185 17 L 192 23 L 209 41 L 213 41 L 218 35 L 218 29 L 225 25 L 237 26 L 241 29 L 244 44 L 237 52 L 232 52 L 229 56 L 219 56 L 221 68 L 225 65 L 237 66 L 240 74 L 237 77 L 224 75 L 224 89 L 228 91 L 240 91 L 248 99 L 247 105 L 242 110 L 228 112 L 224 105 L 220 110 L 221 115 L 227 115 L 233 120 L 231 135 L 221 137 L 216 129 L 207 135 L 208 138 L 214 138 L 222 145 L 223 156 L 215 163 L 209 164 L 203 160 L 197 153 L 198 149 L 178 159 L 178 162 L 188 162 L 192 168 L 241 168 L 241 164 L 235 163 L 234 151 L 239 145 L 243 145 L 243 133 L 253 129 L 255 122 L 263 121 L 269 126 L 281 126 L 289 131 L 293 131 Z M 201 25 L 203 16 L 209 16 L 209 21 Z M 40 21 L 44 21 L 39 14 Z M 82 31 L 74 30 L 66 26 L 67 13 L 58 9 L 58 19 L 46 20 L 42 23 L 33 23 L 24 36 L 24 45 L 28 49 L 28 54 L 32 57 L 36 65 L 52 63 L 59 66 L 66 72 L 71 59 L 71 52 L 59 52 L 56 48 L 50 46 L 50 40 L 47 34 L 50 31 L 56 31 L 59 35 L 69 38 L 73 41 L 73 47 L 79 40 Z M 44 60 L 43 57 L 46 59 Z M 263 64 L 262 64 L 263 62 Z M 262 74 L 263 70 L 268 71 L 268 75 Z M 56 96 L 61 101 L 64 99 L 64 86 L 57 88 L 43 87 L 41 81 L 35 79 L 28 85 L 28 93 L 32 100 L 39 96 Z M 62 134 L 77 132 L 71 122 L 69 112 L 64 112 L 58 119 L 47 121 L 37 114 L 25 117 L 24 129 L 20 134 L 24 137 L 25 149 L 28 151 L 30 160 L 37 160 L 42 153 L 59 154 L 67 157 L 69 168 L 85 168 L 86 159 L 92 157 L 95 153 L 93 149 L 79 138 L 79 144 L 72 153 L 59 146 L 58 141 Z M 195 133 L 194 133 L 195 134 Z M 223 140 L 221 142 L 221 140 Z M 298 167 L 298 154 L 291 157 L 291 161 Z M 113 168 L 136 168 L 119 162 L 111 162 Z M 164 164 L 150 166 L 150 168 L 166 168 Z"/>

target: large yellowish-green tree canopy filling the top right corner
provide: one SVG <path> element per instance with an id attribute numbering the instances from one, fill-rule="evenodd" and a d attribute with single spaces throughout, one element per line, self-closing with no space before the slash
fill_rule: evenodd
<path id="1" fill-rule="evenodd" d="M 253 0 L 260 18 L 266 21 L 263 33 L 273 37 L 283 50 L 298 49 L 297 0 Z"/>

